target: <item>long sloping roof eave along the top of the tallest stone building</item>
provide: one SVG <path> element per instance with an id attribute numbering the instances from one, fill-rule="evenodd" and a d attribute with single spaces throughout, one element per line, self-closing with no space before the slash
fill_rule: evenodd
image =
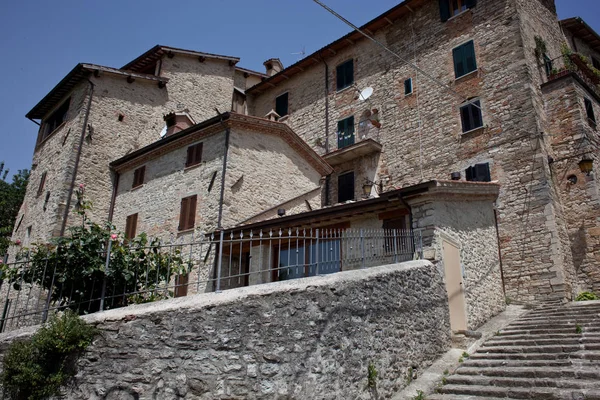
<path id="1" fill-rule="evenodd" d="M 388 25 L 392 25 L 395 20 L 398 20 L 413 12 L 414 8 L 420 7 L 426 1 L 427 0 L 405 0 L 394 8 L 367 22 L 360 27 L 360 30 L 368 34 L 375 33 L 379 29 L 382 29 Z M 290 65 L 272 77 L 265 79 L 263 82 L 254 85 L 248 89 L 247 92 L 249 94 L 256 92 L 260 93 L 267 90 L 269 87 L 276 86 L 278 83 L 289 79 L 291 76 L 296 75 L 315 64 L 320 64 L 322 59 L 335 55 L 337 52 L 347 47 L 353 46 L 354 43 L 363 38 L 364 36 L 360 32 L 352 31 L 347 35 L 342 36 L 338 40 L 328 44 L 327 46 L 315 51 L 297 63 Z"/>

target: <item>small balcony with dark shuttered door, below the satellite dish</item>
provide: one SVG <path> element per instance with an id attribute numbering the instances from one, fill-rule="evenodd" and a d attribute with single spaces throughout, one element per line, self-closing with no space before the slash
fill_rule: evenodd
<path id="1" fill-rule="evenodd" d="M 361 121 L 358 131 L 354 129 L 336 132 L 329 137 L 331 151 L 323 158 L 331 166 L 336 166 L 374 153 L 380 153 L 379 128 L 370 121 Z"/>

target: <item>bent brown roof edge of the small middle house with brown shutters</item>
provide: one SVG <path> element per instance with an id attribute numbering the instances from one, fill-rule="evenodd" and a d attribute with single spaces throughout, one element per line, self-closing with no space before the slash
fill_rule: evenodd
<path id="1" fill-rule="evenodd" d="M 304 158 L 321 175 L 329 175 L 333 168 L 319 156 L 304 140 L 300 138 L 288 125 L 274 122 L 264 118 L 251 117 L 249 115 L 226 112 L 197 125 L 189 127 L 174 135 L 160 139 L 146 147 L 131 154 L 119 158 L 110 163 L 111 168 L 116 171 L 125 171 L 142 165 L 148 160 L 160 157 L 175 149 L 185 147 L 224 130 L 224 127 L 243 126 L 253 129 L 255 132 L 272 134 L 283 139 L 302 158 Z M 268 143 L 268 141 L 266 142 Z"/>

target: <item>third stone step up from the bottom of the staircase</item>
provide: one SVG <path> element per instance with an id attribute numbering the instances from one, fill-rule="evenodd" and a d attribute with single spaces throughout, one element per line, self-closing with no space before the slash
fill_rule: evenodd
<path id="1" fill-rule="evenodd" d="M 480 375 L 486 377 L 503 378 L 557 378 L 578 380 L 600 380 L 600 369 L 595 367 L 561 368 L 561 367 L 500 367 L 500 368 L 472 368 L 460 367 L 456 375 Z"/>

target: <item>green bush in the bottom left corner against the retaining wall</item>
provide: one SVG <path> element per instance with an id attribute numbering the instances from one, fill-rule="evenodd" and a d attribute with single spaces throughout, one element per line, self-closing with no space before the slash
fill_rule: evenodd
<path id="1" fill-rule="evenodd" d="M 8 348 L 1 376 L 4 394 L 13 400 L 60 396 L 76 373 L 77 357 L 96 333 L 71 311 L 52 316 L 31 339 Z"/>

